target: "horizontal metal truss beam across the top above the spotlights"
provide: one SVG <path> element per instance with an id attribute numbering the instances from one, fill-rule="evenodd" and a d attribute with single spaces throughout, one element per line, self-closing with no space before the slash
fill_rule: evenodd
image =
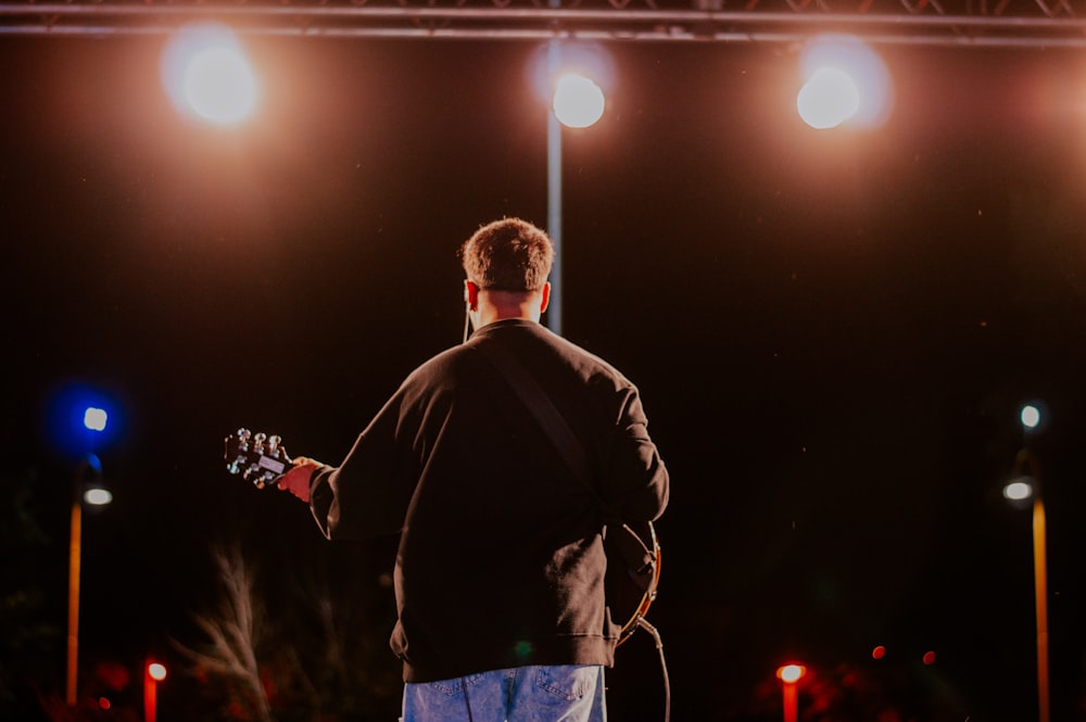
<path id="1" fill-rule="evenodd" d="M 637 1 L 22 0 L 0 2 L 0 36 L 168 34 L 215 20 L 241 34 L 313 37 L 786 43 L 848 33 L 877 43 L 1086 47 L 1073 0 Z"/>

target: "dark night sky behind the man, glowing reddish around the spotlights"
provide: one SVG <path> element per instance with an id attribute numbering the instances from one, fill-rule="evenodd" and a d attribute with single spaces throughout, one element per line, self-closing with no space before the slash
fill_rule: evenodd
<path id="1" fill-rule="evenodd" d="M 33 479 L 61 629 L 48 400 L 80 382 L 118 409 L 89 657 L 168 656 L 219 540 L 329 554 L 302 505 L 226 474 L 223 438 L 338 461 L 459 341 L 459 242 L 546 223 L 532 45 L 244 42 L 263 105 L 214 129 L 165 98 L 163 38 L 0 38 L 4 481 Z M 1030 515 L 999 495 L 1035 401 L 1052 719 L 1086 719 L 1081 52 L 880 48 L 888 122 L 819 132 L 796 48 L 607 48 L 607 113 L 564 138 L 563 331 L 639 385 L 671 470 L 649 619 L 674 719 L 778 719 L 790 659 L 806 719 L 860 719 L 813 709 L 858 680 L 902 720 L 1035 719 Z M 649 637 L 610 680 L 617 722 L 657 719 Z"/>

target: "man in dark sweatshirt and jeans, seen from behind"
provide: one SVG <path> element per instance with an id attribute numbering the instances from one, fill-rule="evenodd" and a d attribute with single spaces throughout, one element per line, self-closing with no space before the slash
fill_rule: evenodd
<path id="1" fill-rule="evenodd" d="M 391 646 L 404 722 L 603 722 L 621 625 L 605 607 L 603 528 L 658 518 L 668 472 L 637 389 L 540 325 L 546 233 L 497 220 L 460 258 L 471 339 L 413 371 L 339 467 L 299 458 L 279 485 L 328 539 L 400 534 Z M 590 478 L 494 351 L 546 391 Z"/>

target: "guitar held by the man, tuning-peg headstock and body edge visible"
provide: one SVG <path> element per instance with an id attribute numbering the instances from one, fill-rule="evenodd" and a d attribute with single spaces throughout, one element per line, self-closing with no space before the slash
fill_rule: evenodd
<path id="1" fill-rule="evenodd" d="M 224 443 L 226 470 L 252 482 L 257 489 L 275 487 L 291 465 L 278 435 L 254 434 L 241 428 L 227 436 Z M 627 620 L 619 632 L 618 645 L 629 639 L 639 628 L 646 628 L 656 636 L 655 630 L 645 621 L 660 583 L 660 544 L 653 522 L 606 527 L 604 548 L 607 553 L 605 586 L 611 619 Z"/>

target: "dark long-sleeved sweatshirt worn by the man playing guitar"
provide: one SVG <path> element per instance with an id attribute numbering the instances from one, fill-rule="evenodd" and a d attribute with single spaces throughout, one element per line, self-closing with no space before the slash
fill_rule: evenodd
<path id="1" fill-rule="evenodd" d="M 476 346 L 514 354 L 581 441 L 578 481 Z M 504 320 L 422 364 L 311 506 L 331 539 L 400 533 L 391 646 L 406 682 L 525 664 L 614 663 L 605 521 L 654 520 L 669 479 L 637 389 L 539 324 Z"/>

